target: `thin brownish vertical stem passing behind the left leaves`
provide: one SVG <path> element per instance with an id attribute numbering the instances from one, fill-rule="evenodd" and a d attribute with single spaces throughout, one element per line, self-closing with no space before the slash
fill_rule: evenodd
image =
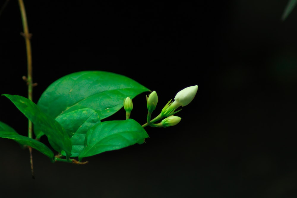
<path id="1" fill-rule="evenodd" d="M 24 6 L 23 0 L 18 0 L 21 18 L 23 22 L 23 29 L 24 32 L 21 35 L 25 38 L 26 42 L 26 51 L 27 51 L 27 70 L 28 75 L 26 78 L 27 85 L 28 85 L 28 99 L 32 101 L 33 98 L 33 83 L 32 83 L 32 53 L 31 53 L 31 36 L 32 34 L 29 33 L 28 23 L 27 23 L 27 16 L 26 16 L 26 9 Z M 28 137 L 32 138 L 32 122 L 28 121 Z M 32 148 L 29 146 L 30 151 L 30 163 L 31 163 L 31 172 L 32 178 L 34 178 L 34 171 L 33 171 L 33 156 L 32 156 Z"/>

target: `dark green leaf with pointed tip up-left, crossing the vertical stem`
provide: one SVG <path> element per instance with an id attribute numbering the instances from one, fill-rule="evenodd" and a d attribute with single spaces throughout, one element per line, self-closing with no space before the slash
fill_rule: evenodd
<path id="1" fill-rule="evenodd" d="M 23 96 L 3 95 L 10 99 L 11 102 L 32 121 L 37 130 L 48 137 L 50 144 L 56 151 L 65 151 L 67 157 L 71 155 L 70 138 L 56 120 L 43 113 L 35 103 Z"/>

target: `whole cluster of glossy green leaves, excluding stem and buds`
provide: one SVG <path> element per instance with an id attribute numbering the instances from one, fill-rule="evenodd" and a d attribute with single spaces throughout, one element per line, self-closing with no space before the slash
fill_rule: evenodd
<path id="1" fill-rule="evenodd" d="M 32 121 L 37 140 L 19 135 L 1 122 L 0 137 L 31 146 L 55 160 L 50 148 L 38 141 L 46 135 L 53 149 L 66 156 L 68 162 L 70 156 L 81 160 L 141 144 L 149 136 L 135 120 L 101 120 L 123 107 L 125 98 L 134 98 L 145 91 L 149 89 L 122 75 L 84 71 L 53 82 L 37 104 L 23 96 L 3 94 Z"/>

